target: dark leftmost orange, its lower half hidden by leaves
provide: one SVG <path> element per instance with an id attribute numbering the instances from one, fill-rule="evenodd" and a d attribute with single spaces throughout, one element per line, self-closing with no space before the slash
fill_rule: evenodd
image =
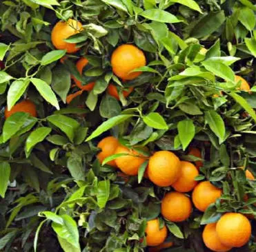
<path id="1" fill-rule="evenodd" d="M 9 111 L 6 108 L 4 115 L 7 119 L 9 116 L 17 112 L 25 112 L 31 116 L 37 117 L 36 105 L 30 100 L 23 100 L 20 103 L 16 103 Z"/>

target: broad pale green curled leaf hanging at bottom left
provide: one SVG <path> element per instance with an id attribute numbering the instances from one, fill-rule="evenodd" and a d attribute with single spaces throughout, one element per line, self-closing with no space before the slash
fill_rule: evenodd
<path id="1" fill-rule="evenodd" d="M 64 214 L 60 216 L 63 220 L 63 224 L 52 222 L 52 229 L 57 233 L 59 237 L 66 240 L 76 248 L 80 248 L 79 244 L 79 232 L 77 229 L 77 223 L 72 217 Z"/>

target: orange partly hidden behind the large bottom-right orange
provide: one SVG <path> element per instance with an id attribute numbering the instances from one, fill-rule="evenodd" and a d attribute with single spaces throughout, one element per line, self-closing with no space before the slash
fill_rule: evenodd
<path id="1" fill-rule="evenodd" d="M 222 244 L 216 232 L 216 223 L 207 224 L 203 231 L 204 244 L 208 249 L 216 252 L 230 251 L 232 247 Z"/>

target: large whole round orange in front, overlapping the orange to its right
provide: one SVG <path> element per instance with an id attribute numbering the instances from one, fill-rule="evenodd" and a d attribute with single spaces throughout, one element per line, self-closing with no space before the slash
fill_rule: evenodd
<path id="1" fill-rule="evenodd" d="M 148 163 L 148 177 L 159 187 L 172 185 L 181 174 L 180 160 L 171 151 L 156 151 Z"/>

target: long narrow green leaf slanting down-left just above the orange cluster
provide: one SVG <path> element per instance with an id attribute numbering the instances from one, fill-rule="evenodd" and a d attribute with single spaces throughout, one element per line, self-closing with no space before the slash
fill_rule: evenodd
<path id="1" fill-rule="evenodd" d="M 99 125 L 99 127 L 97 127 L 97 129 L 95 129 L 95 131 L 92 132 L 88 138 L 86 138 L 86 141 L 92 140 L 92 138 L 96 138 L 103 132 L 106 132 L 108 129 L 111 129 L 115 125 L 119 125 L 119 123 L 123 123 L 125 120 L 131 118 L 132 116 L 132 114 L 121 114 L 106 120 L 106 122 Z"/>

